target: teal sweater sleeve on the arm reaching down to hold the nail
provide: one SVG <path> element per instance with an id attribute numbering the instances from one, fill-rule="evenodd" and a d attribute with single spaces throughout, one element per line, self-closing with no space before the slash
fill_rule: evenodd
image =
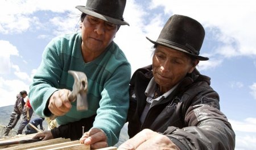
<path id="1" fill-rule="evenodd" d="M 119 132 L 126 122 L 130 73 L 130 65 L 117 68 L 101 92 L 100 108 L 97 110 L 93 128 L 101 128 L 105 132 L 109 145 L 117 143 Z"/>

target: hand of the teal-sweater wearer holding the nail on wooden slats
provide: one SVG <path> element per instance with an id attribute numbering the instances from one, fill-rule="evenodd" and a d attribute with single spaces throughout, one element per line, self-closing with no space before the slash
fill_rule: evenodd
<path id="1" fill-rule="evenodd" d="M 93 149 L 108 147 L 106 134 L 99 128 L 92 128 L 85 132 L 80 138 L 80 143 L 90 145 L 90 148 Z"/>

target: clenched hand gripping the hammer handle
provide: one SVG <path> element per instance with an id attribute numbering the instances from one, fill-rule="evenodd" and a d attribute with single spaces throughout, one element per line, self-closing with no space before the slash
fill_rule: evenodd
<path id="1" fill-rule="evenodd" d="M 49 98 L 48 109 L 52 114 L 62 116 L 71 109 L 72 105 L 68 99 L 68 95 L 71 93 L 70 90 L 61 89 L 55 91 Z"/>

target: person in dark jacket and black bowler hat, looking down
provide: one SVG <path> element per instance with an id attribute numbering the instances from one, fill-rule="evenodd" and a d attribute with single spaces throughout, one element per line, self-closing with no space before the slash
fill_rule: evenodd
<path id="1" fill-rule="evenodd" d="M 195 19 L 173 15 L 156 41 L 152 65 L 130 81 L 131 139 L 118 149 L 234 149 L 235 134 L 219 95 L 196 65 L 205 31 Z"/>

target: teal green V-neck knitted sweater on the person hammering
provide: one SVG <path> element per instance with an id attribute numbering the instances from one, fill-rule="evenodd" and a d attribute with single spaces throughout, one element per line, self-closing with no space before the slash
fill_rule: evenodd
<path id="1" fill-rule="evenodd" d="M 77 111 L 75 101 L 67 114 L 56 118 L 57 123 L 75 122 L 97 114 L 93 128 L 101 128 L 108 136 L 108 144 L 114 145 L 126 122 L 131 66 L 114 41 L 97 59 L 85 63 L 81 41 L 81 34 L 76 33 L 57 37 L 47 45 L 28 97 L 36 114 L 49 116 L 47 101 L 53 92 L 72 90 L 74 80 L 68 70 L 84 72 L 88 78 L 88 110 Z"/>

